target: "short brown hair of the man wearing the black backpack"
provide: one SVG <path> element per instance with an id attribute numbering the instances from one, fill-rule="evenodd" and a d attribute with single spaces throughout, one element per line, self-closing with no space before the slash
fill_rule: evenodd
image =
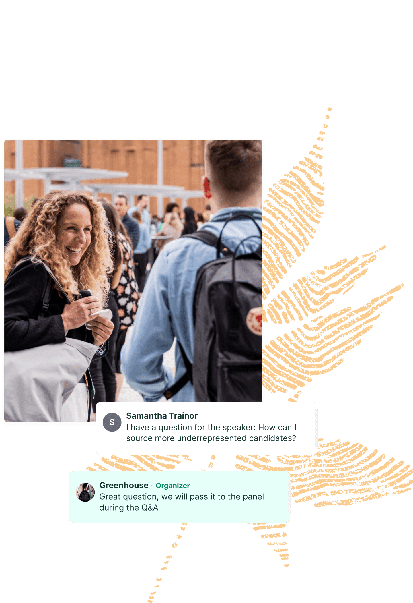
<path id="1" fill-rule="evenodd" d="M 244 191 L 262 173 L 262 140 L 207 140 L 205 161 L 218 186 L 229 192 Z"/>

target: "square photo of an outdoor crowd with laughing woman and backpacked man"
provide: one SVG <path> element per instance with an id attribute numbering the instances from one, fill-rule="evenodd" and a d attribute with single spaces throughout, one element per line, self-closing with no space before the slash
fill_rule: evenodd
<path id="1" fill-rule="evenodd" d="M 6 421 L 261 401 L 261 140 L 8 140 L 4 177 Z"/>

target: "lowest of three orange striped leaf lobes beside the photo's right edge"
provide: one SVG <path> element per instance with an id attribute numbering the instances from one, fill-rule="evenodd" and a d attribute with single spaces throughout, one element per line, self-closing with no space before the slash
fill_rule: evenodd
<path id="1" fill-rule="evenodd" d="M 375 257 L 375 256 L 371 256 Z M 299 281 L 300 282 L 300 281 Z M 341 309 L 315 318 L 314 326 L 303 324 L 290 334 L 278 336 L 265 344 L 262 350 L 262 382 L 271 393 L 300 392 L 312 377 L 329 373 L 344 361 L 344 354 L 361 344 L 361 337 L 371 329 L 382 314 L 380 308 L 393 300 L 403 283 L 379 297 L 374 297 L 364 306 L 352 310 Z M 296 402 L 294 394 L 290 402 Z"/>

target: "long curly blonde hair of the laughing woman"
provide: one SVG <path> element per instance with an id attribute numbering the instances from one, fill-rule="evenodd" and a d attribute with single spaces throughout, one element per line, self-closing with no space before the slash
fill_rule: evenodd
<path id="1" fill-rule="evenodd" d="M 87 207 L 92 222 L 92 241 L 79 264 L 70 266 L 56 244 L 57 223 L 64 210 L 79 203 Z M 92 195 L 84 191 L 53 191 L 38 199 L 4 254 L 4 280 L 23 257 L 44 262 L 52 271 L 70 300 L 79 289 L 91 289 L 105 307 L 110 290 L 108 274 L 113 271 L 110 247 L 113 235 L 106 213 Z M 57 288 L 57 286 L 56 286 Z M 58 289 L 59 291 L 59 289 Z"/>

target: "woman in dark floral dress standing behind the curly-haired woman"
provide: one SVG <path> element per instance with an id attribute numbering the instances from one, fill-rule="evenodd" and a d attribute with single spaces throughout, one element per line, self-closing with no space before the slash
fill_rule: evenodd
<path id="1" fill-rule="evenodd" d="M 138 285 L 135 280 L 133 265 L 132 244 L 126 234 L 125 227 L 120 223 L 120 230 L 117 233 L 117 241 L 123 254 L 122 275 L 119 285 L 116 287 L 114 298 L 117 304 L 117 314 L 119 315 L 119 333 L 116 341 L 115 366 L 116 366 L 116 397 L 119 396 L 120 388 L 123 384 L 123 374 L 120 372 L 120 350 L 125 343 L 126 332 L 132 326 L 135 320 L 138 300 Z"/>

